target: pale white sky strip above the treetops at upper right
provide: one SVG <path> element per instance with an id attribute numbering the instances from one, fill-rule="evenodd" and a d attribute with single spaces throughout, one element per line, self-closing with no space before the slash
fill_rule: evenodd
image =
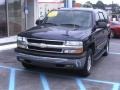
<path id="1" fill-rule="evenodd" d="M 93 4 L 95 4 L 98 0 L 76 0 L 76 2 L 80 2 L 82 4 L 85 3 L 85 2 L 87 2 L 87 1 L 90 1 Z M 115 3 L 115 4 L 117 3 L 117 4 L 120 5 L 120 0 L 99 0 L 99 1 L 102 1 L 105 4 L 111 4 L 112 1 L 113 1 L 113 3 Z"/>

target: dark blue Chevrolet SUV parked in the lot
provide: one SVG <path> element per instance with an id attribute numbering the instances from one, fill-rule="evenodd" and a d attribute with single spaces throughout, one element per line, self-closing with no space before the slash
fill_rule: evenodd
<path id="1" fill-rule="evenodd" d="M 93 62 L 108 55 L 110 30 L 103 10 L 53 10 L 36 24 L 17 37 L 17 59 L 26 68 L 72 68 L 88 76 Z"/>

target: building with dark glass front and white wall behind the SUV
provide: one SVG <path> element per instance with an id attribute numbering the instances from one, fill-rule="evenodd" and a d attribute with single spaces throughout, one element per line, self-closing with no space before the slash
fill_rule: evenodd
<path id="1" fill-rule="evenodd" d="M 64 7 L 61 0 L 0 0 L 0 39 L 15 36 L 35 26 L 51 10 Z"/>

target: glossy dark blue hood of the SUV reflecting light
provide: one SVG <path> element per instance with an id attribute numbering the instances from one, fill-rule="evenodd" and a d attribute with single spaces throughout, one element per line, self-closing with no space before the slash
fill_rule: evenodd
<path id="1" fill-rule="evenodd" d="M 73 28 L 62 26 L 34 27 L 27 30 L 20 36 L 38 39 L 51 40 L 83 40 L 91 34 L 91 28 Z"/>

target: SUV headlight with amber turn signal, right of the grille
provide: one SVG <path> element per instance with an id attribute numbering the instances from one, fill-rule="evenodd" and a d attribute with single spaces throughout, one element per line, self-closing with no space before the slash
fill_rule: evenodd
<path id="1" fill-rule="evenodd" d="M 83 53 L 83 42 L 81 41 L 66 41 L 65 45 L 71 47 L 73 46 L 75 48 L 64 50 L 64 53 L 75 53 L 75 54 Z"/>

